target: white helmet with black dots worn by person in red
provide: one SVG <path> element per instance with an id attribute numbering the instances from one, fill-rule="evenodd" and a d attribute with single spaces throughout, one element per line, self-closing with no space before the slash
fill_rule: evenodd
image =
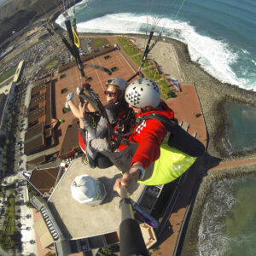
<path id="1" fill-rule="evenodd" d="M 126 88 L 125 101 L 136 108 L 156 108 L 160 103 L 159 87 L 153 80 L 137 79 Z"/>

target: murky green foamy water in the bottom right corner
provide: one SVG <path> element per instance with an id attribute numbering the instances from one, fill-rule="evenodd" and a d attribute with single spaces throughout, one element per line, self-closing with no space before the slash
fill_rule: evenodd
<path id="1" fill-rule="evenodd" d="M 255 177 L 224 179 L 212 186 L 202 211 L 198 244 L 190 255 L 255 255 L 255 201 Z"/>

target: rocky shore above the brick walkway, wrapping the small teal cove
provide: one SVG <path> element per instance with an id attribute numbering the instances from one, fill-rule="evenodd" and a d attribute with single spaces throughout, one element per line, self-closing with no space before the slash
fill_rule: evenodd
<path id="1" fill-rule="evenodd" d="M 189 50 L 186 44 L 170 38 L 166 39 L 166 41 L 174 44 L 180 67 L 183 69 L 186 79 L 195 82 L 195 88 L 201 102 L 209 135 L 208 153 L 224 160 L 239 157 L 237 154 L 234 156 L 229 155 L 224 150 L 222 143 L 224 127 L 226 125 L 224 103 L 234 101 L 256 107 L 256 92 L 241 89 L 237 85 L 221 83 L 218 79 L 213 78 L 205 72 L 198 63 L 190 60 Z M 240 155 L 244 157 L 255 155 L 255 153 L 256 151 L 252 150 Z"/>

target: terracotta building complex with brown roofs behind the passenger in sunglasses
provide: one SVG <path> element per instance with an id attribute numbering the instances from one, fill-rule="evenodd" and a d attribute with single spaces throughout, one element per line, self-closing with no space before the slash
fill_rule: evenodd
<path id="1" fill-rule="evenodd" d="M 111 77 L 129 79 L 135 73 L 125 57 L 113 46 L 81 56 L 81 59 L 86 61 L 84 73 L 103 104 L 106 103 L 103 91 L 110 76 L 102 69 L 96 69 L 96 66 L 113 70 Z M 76 91 L 81 83 L 80 73 L 74 61 L 60 66 L 58 73 L 53 77 L 35 82 L 27 108 L 26 155 L 55 147 L 55 152 L 64 160 L 73 158 L 79 152 L 79 137 L 76 131 L 78 119 L 74 119 L 73 113 L 65 108 L 65 102 L 68 93 Z M 77 96 L 74 102 L 79 104 Z"/>

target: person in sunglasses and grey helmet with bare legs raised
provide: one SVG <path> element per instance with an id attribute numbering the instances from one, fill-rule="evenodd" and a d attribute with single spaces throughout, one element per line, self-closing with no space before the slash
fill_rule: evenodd
<path id="1" fill-rule="evenodd" d="M 108 137 L 108 125 L 114 126 L 116 119 L 127 111 L 128 104 L 125 102 L 124 98 L 125 88 L 127 85 L 128 84 L 125 79 L 120 78 L 109 79 L 106 83 L 107 90 L 104 91 L 104 94 L 106 95 L 108 105 L 105 107 L 105 109 L 108 113 L 110 124 L 107 124 L 107 120 L 102 116 L 95 124 L 94 120 L 90 118 L 90 114 L 87 113 L 95 112 L 96 108 L 86 101 L 83 105 L 79 103 L 79 108 L 77 108 L 73 102 L 73 93 L 67 95 L 66 108 L 70 108 L 73 115 L 79 119 L 79 137 L 83 137 L 84 153 L 86 153 L 89 165 L 92 168 L 95 168 L 96 166 L 99 168 L 108 168 L 109 166 L 113 166 L 108 157 L 102 155 L 96 151 L 95 148 L 91 147 L 90 141 L 93 138 Z M 81 90 L 82 89 L 78 88 L 77 93 L 80 94 Z"/>

